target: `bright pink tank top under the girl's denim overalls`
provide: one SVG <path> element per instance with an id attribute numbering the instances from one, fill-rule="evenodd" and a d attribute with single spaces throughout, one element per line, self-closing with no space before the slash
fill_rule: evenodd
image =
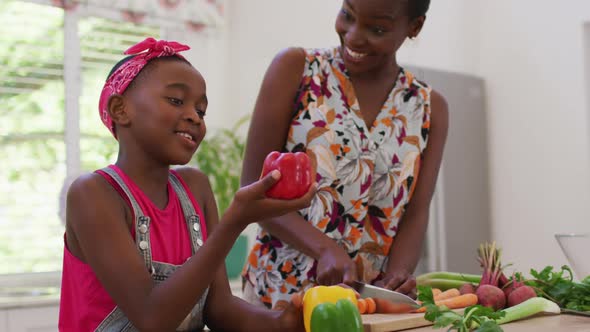
<path id="1" fill-rule="evenodd" d="M 150 242 L 152 259 L 174 265 L 182 265 L 191 257 L 191 240 L 187 230 L 180 200 L 168 183 L 168 205 L 163 209 L 156 207 L 139 187 L 115 165 L 110 165 L 123 179 L 131 194 L 141 207 L 144 215 L 151 218 Z M 205 217 L 188 186 L 171 170 L 182 183 L 195 211 L 199 215 L 203 240 L 207 238 Z M 123 189 L 109 175 L 102 175 L 130 205 Z M 135 218 L 133 219 L 135 220 Z M 135 228 L 135 225 L 133 225 Z M 131 231 L 135 240 L 135 232 Z M 169 241 L 167 239 L 174 239 Z M 62 270 L 62 286 L 59 310 L 60 331 L 94 331 L 116 304 L 102 287 L 92 268 L 70 253 L 65 242 Z"/>

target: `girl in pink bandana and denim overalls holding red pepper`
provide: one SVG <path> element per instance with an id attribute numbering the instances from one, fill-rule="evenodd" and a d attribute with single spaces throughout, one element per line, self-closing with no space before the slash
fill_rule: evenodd
<path id="1" fill-rule="evenodd" d="M 67 197 L 60 331 L 303 330 L 299 299 L 282 311 L 233 297 L 224 258 L 248 223 L 308 206 L 264 193 L 275 171 L 240 189 L 218 223 L 207 176 L 171 170 L 205 136 L 205 81 L 148 38 L 109 75 L 99 103 L 119 143 L 115 165 L 78 178 Z"/>

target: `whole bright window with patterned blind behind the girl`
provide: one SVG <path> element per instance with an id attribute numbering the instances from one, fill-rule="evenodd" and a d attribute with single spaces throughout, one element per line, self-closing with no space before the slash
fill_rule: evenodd
<path id="1" fill-rule="evenodd" d="M 0 1 L 3 282 L 59 277 L 64 188 L 116 157 L 97 104 L 122 52 L 147 36 L 164 36 L 198 44 L 189 61 L 219 72 L 224 40 L 207 32 L 223 26 L 223 8 L 224 0 Z M 219 82 L 210 87 L 212 94 L 224 91 Z"/>

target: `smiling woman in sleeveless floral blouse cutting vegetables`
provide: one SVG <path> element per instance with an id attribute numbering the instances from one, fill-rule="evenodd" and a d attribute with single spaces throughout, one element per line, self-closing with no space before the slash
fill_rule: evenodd
<path id="1" fill-rule="evenodd" d="M 306 151 L 319 189 L 309 209 L 261 220 L 243 273 L 249 301 L 270 307 L 353 280 L 414 294 L 448 110 L 396 53 L 418 35 L 429 4 L 343 0 L 340 45 L 290 48 L 268 68 L 242 184 L 256 181 L 270 151 Z"/>

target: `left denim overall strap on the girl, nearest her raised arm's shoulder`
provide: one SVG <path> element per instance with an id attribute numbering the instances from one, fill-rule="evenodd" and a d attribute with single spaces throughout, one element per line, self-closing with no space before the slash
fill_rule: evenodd
<path id="1" fill-rule="evenodd" d="M 108 174 L 117 182 L 131 203 L 133 215 L 135 216 L 135 245 L 143 257 L 146 268 L 153 274 L 154 266 L 152 264 L 152 248 L 150 246 L 150 217 L 144 215 L 139 203 L 137 203 L 137 200 L 133 197 L 131 190 L 129 190 L 129 187 L 125 184 L 119 173 L 110 167 L 105 167 L 101 171 Z"/>

